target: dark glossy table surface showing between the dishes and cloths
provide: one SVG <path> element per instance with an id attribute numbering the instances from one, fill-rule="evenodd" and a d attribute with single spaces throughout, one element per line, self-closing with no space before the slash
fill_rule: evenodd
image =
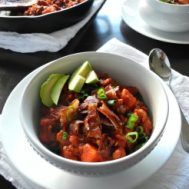
<path id="1" fill-rule="evenodd" d="M 0 111 L 2 111 L 12 89 L 35 68 L 71 53 L 95 51 L 113 37 L 146 54 L 155 47 L 163 49 L 168 54 L 172 67 L 189 76 L 189 45 L 164 43 L 135 32 L 122 20 L 121 7 L 117 2 L 107 0 L 97 15 L 79 31 L 63 50 L 57 53 L 21 54 L 0 49 Z M 14 189 L 1 176 L 0 188 Z"/>

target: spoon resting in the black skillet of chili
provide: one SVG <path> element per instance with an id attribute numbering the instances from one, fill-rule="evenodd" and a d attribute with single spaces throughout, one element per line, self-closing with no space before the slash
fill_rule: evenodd
<path id="1" fill-rule="evenodd" d="M 0 10 L 15 10 L 29 7 L 37 0 L 0 0 Z"/>

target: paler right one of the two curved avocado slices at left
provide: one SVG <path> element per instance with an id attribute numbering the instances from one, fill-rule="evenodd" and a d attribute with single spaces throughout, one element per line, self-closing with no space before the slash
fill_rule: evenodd
<path id="1" fill-rule="evenodd" d="M 68 80 L 68 78 L 69 78 L 69 75 L 62 75 L 57 80 L 57 82 L 54 84 L 54 86 L 52 87 L 50 96 L 51 96 L 53 103 L 56 105 L 58 104 L 58 100 L 60 98 L 61 91 L 62 91 L 66 81 Z"/>

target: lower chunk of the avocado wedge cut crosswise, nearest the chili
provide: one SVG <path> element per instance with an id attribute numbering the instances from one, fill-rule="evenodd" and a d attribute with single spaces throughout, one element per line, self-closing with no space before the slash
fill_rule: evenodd
<path id="1" fill-rule="evenodd" d="M 85 84 L 85 78 L 81 75 L 75 75 L 71 82 L 69 82 L 68 89 L 79 93 Z"/>

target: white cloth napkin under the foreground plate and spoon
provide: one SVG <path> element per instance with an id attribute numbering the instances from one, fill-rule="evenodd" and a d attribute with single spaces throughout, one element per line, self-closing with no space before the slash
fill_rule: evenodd
<path id="1" fill-rule="evenodd" d="M 147 56 L 130 47 L 117 39 L 108 41 L 98 51 L 109 52 L 125 56 L 134 61 L 141 62 L 144 66 L 148 67 Z M 186 113 L 186 117 L 189 120 L 189 78 L 173 72 L 174 77 L 172 80 L 172 87 L 175 91 L 175 95 L 182 105 L 183 111 Z M 31 186 L 22 178 L 21 175 L 15 173 L 6 160 L 6 154 L 3 151 L 0 141 L 0 174 L 2 174 L 7 180 L 13 183 L 18 189 L 36 189 L 35 186 Z M 155 163 L 155 162 L 154 162 Z M 141 173 L 143 174 L 143 173 Z M 145 173 L 144 173 L 145 174 Z M 111 188 L 111 186 L 110 186 Z M 178 143 L 176 150 L 170 160 L 161 168 L 155 175 L 149 180 L 137 187 L 137 189 L 188 189 L 189 188 L 189 155 L 182 149 L 180 142 Z"/>

